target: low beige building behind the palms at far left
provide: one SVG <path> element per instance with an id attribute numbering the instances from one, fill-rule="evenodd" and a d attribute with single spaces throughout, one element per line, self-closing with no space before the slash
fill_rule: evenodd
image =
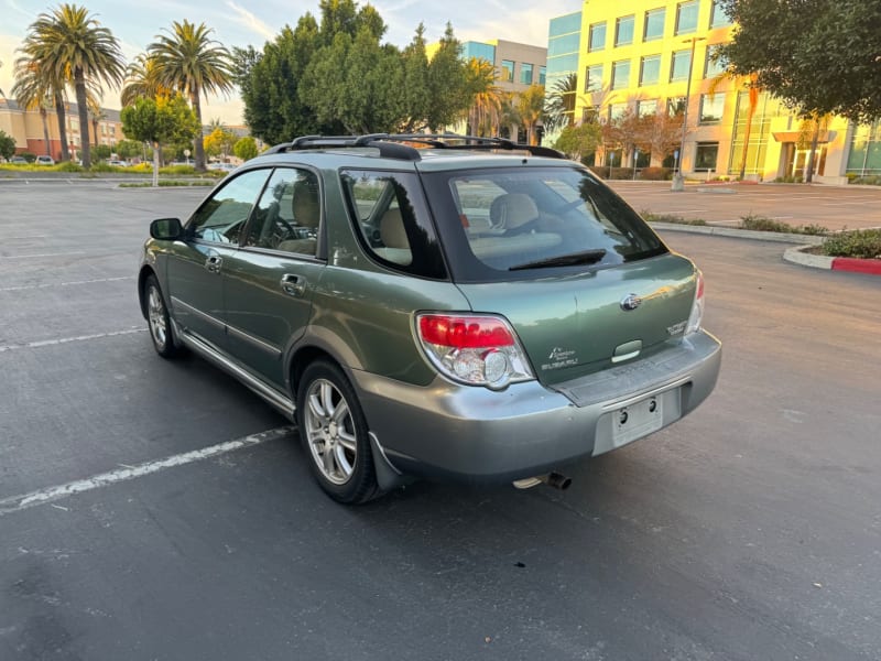
<path id="1" fill-rule="evenodd" d="M 76 160 L 81 144 L 79 111 L 76 104 L 65 104 L 65 127 L 67 129 L 67 147 L 70 156 Z M 48 154 L 56 161 L 61 160 L 62 142 L 55 108 L 47 109 L 43 116 L 40 110 L 21 108 L 13 99 L 0 98 L 0 130 L 15 140 L 17 153 Z M 91 119 L 88 131 L 93 145 L 112 147 L 122 140 L 124 136 L 119 110 L 102 108 L 100 115 Z M 48 142 L 46 142 L 46 136 Z"/>

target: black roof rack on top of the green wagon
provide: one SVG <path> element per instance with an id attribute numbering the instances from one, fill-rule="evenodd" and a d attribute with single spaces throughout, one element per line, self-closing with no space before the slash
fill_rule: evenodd
<path id="1" fill-rule="evenodd" d="M 411 143 L 411 144 L 405 144 Z M 420 150 L 412 143 L 432 149 L 461 149 L 475 151 L 526 151 L 534 156 L 565 159 L 555 149 L 537 144 L 523 144 L 507 138 L 483 138 L 480 136 L 461 136 L 459 133 L 367 133 L 365 136 L 301 136 L 292 142 L 283 142 L 270 148 L 264 153 L 276 154 L 293 150 L 334 149 L 347 147 L 373 147 L 379 149 L 380 156 L 418 161 Z"/>

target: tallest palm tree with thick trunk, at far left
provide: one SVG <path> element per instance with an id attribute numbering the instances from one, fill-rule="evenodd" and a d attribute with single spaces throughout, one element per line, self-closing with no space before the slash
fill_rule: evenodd
<path id="1" fill-rule="evenodd" d="M 41 13 L 31 24 L 23 51 L 52 77 L 73 83 L 83 166 L 89 167 L 89 89 L 100 94 L 101 83 L 117 87 L 122 82 L 119 42 L 85 7 L 62 4 L 51 14 Z"/>

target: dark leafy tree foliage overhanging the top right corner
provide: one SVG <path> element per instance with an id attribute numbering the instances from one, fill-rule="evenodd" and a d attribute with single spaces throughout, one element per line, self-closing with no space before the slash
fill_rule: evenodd
<path id="1" fill-rule="evenodd" d="M 722 0 L 729 71 L 804 113 L 881 117 L 881 0 Z"/>

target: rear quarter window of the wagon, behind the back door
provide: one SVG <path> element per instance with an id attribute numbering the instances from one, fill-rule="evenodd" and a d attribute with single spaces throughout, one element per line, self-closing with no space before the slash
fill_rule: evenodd
<path id="1" fill-rule="evenodd" d="M 357 235 L 381 264 L 424 278 L 446 278 L 418 178 L 407 172 L 347 170 L 342 188 Z"/>

